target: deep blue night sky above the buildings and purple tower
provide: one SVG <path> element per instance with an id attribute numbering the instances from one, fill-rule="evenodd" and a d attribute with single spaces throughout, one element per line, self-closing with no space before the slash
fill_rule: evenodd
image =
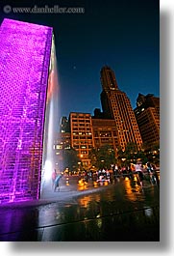
<path id="1" fill-rule="evenodd" d="M 21 3 L 20 3 L 21 2 Z M 160 96 L 158 0 L 1 1 L 4 17 L 53 26 L 60 81 L 60 115 L 101 108 L 100 70 L 108 65 L 136 107 L 138 93 Z M 85 14 L 5 14 L 12 7 L 83 7 Z"/>

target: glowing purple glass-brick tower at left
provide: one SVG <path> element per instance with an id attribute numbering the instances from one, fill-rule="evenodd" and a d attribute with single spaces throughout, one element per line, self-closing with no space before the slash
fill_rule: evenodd
<path id="1" fill-rule="evenodd" d="M 0 27 L 0 204 L 39 198 L 52 28 Z"/>

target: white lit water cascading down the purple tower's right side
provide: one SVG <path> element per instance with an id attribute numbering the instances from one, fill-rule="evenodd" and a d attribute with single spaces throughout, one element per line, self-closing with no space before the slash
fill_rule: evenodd
<path id="1" fill-rule="evenodd" d="M 53 149 L 54 138 L 59 127 L 59 82 L 54 36 L 52 38 L 51 59 L 47 89 L 45 111 L 45 125 L 43 137 L 43 156 L 41 170 L 40 197 L 52 191 L 51 176 L 55 166 L 55 153 Z"/>

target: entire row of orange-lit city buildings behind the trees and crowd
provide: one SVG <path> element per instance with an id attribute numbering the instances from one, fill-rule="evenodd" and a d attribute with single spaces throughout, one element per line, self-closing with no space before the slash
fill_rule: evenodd
<path id="1" fill-rule="evenodd" d="M 91 168 L 92 149 L 98 151 L 102 147 L 109 147 L 117 159 L 120 149 L 126 152 L 133 145 L 134 151 L 141 151 L 144 147 L 149 151 L 152 145 L 157 150 L 155 154 L 159 151 L 160 99 L 152 94 L 139 94 L 134 111 L 130 99 L 120 90 L 114 72 L 108 66 L 101 69 L 101 83 L 102 111 L 95 108 L 94 115 L 81 111 L 70 112 L 68 119 L 62 117 L 60 132 L 54 142 L 55 162 L 61 169 L 63 153 L 70 148 L 77 152 L 83 167 L 88 169 Z"/>

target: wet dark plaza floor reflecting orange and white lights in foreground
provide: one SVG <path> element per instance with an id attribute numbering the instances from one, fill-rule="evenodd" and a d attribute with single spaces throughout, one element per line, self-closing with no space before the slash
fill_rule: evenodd
<path id="1" fill-rule="evenodd" d="M 160 241 L 160 187 L 148 181 L 79 185 L 63 177 L 60 191 L 0 213 L 0 241 Z"/>

